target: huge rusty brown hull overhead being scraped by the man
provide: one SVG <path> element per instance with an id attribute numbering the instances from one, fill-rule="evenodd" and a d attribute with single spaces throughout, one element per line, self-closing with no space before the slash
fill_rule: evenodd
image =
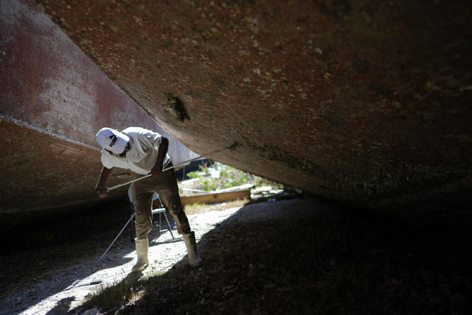
<path id="1" fill-rule="evenodd" d="M 470 189 L 470 1 L 35 2 L 197 153 L 362 206 Z"/>

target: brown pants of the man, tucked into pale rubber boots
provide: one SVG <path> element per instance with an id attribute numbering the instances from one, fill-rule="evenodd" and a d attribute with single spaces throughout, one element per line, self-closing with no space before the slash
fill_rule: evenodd
<path id="1" fill-rule="evenodd" d="M 131 192 L 133 194 L 136 237 L 138 239 L 148 237 L 152 229 L 151 203 L 154 192 L 157 192 L 161 200 L 167 205 L 172 217 L 174 217 L 177 232 L 179 234 L 190 233 L 190 225 L 180 202 L 174 169 L 167 170 L 157 177 L 149 176 L 134 182 L 131 186 Z"/>

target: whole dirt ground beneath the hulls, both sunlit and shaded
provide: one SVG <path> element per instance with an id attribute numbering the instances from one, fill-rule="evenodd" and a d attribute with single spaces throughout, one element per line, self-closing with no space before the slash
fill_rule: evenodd
<path id="1" fill-rule="evenodd" d="M 34 248 L 2 253 L 0 314 L 472 310 L 469 220 L 407 220 L 310 198 L 189 210 L 202 267 L 187 265 L 181 236 L 159 235 L 156 227 L 143 273 L 129 274 L 135 261 L 129 229 L 98 263 L 129 218 L 123 206 L 38 230 L 43 242 Z M 93 281 L 101 283 L 87 285 Z"/>

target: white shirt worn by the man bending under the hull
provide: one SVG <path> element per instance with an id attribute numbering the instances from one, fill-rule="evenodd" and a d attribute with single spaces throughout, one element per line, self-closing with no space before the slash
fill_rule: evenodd
<path id="1" fill-rule="evenodd" d="M 111 155 L 102 150 L 101 161 L 106 168 L 120 167 L 130 169 L 141 175 L 148 175 L 156 163 L 159 145 L 162 142 L 162 136 L 154 131 L 141 127 L 128 127 L 121 132 L 128 135 L 130 139 L 130 150 L 126 157 Z M 164 158 L 163 168 L 171 162 L 168 154 Z"/>

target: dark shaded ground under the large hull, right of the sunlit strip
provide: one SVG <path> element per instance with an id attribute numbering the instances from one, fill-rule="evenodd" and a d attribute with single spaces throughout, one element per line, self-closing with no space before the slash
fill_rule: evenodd
<path id="1" fill-rule="evenodd" d="M 280 204 L 292 215 L 260 215 L 279 202 L 248 205 L 205 234 L 198 243 L 201 268 L 191 269 L 183 259 L 165 274 L 140 281 L 140 298 L 133 303 L 101 304 L 100 296 L 95 303 L 102 311 L 117 307 L 113 314 L 472 310 L 470 216 L 401 218 L 328 209 L 315 199 Z"/>

